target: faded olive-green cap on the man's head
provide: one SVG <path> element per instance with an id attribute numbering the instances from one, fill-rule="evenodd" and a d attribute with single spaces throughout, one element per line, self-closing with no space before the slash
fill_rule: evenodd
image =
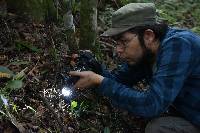
<path id="1" fill-rule="evenodd" d="M 112 26 L 101 36 L 115 36 L 135 26 L 155 23 L 156 8 L 153 3 L 130 3 L 112 14 Z"/>

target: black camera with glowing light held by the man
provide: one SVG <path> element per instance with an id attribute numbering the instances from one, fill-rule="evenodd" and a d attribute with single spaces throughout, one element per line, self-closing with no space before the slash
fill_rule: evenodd
<path id="1" fill-rule="evenodd" d="M 94 54 L 89 51 L 80 51 L 75 63 L 73 67 L 66 67 L 65 73 L 70 71 L 93 71 L 101 74 L 102 72 L 101 64 L 97 61 Z M 63 79 L 62 95 L 65 97 L 65 100 L 70 100 L 77 96 L 73 86 L 79 80 L 79 77 L 69 74 L 61 74 L 61 76 Z"/>

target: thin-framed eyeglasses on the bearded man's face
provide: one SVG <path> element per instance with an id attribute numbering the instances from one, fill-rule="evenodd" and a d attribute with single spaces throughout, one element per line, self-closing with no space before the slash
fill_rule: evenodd
<path id="1" fill-rule="evenodd" d="M 137 34 L 134 34 L 133 37 L 131 37 L 130 39 L 116 39 L 114 41 L 114 48 L 120 48 L 120 49 L 126 49 L 128 44 L 137 36 Z"/>

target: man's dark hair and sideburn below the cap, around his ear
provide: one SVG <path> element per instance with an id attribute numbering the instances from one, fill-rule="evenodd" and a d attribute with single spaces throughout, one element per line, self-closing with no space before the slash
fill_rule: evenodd
<path id="1" fill-rule="evenodd" d="M 147 29 L 151 29 L 155 34 L 155 38 L 161 41 L 167 32 L 168 25 L 165 23 L 162 23 L 162 24 L 154 24 L 154 25 L 137 26 L 128 31 L 131 33 L 137 34 L 141 45 L 145 47 L 143 37 L 144 37 L 144 32 Z"/>

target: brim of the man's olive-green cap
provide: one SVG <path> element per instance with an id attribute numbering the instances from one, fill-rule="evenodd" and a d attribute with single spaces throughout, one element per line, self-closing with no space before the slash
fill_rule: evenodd
<path id="1" fill-rule="evenodd" d="M 128 28 L 110 28 L 107 31 L 105 31 L 103 34 L 101 34 L 101 37 L 112 37 L 119 35 L 127 30 L 131 29 L 131 27 Z"/>

